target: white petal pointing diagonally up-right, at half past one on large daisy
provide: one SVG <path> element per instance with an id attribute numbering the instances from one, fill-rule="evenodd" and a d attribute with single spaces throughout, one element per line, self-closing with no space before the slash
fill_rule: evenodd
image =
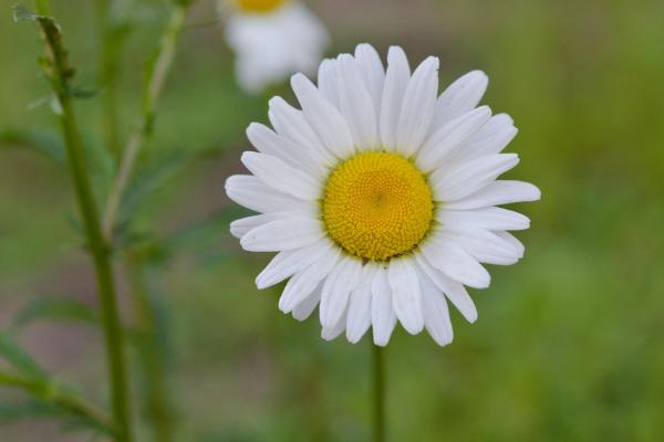
<path id="1" fill-rule="evenodd" d="M 423 172 L 429 172 L 459 151 L 464 141 L 481 127 L 491 116 L 488 106 L 478 107 L 448 122 L 434 131 L 419 149 L 415 164 Z"/>

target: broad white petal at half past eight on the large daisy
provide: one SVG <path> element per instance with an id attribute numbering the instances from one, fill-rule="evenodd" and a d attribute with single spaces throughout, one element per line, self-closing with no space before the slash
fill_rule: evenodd
<path id="1" fill-rule="evenodd" d="M 311 245 L 324 235 L 319 220 L 290 218 L 250 230 L 240 240 L 240 245 L 249 252 L 280 252 Z"/>

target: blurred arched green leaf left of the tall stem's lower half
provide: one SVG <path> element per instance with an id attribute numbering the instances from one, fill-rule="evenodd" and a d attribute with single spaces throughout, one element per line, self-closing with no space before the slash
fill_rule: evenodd
<path id="1" fill-rule="evenodd" d="M 21 328 L 39 319 L 95 324 L 97 317 L 90 306 L 72 297 L 40 297 L 21 308 L 13 324 Z"/>

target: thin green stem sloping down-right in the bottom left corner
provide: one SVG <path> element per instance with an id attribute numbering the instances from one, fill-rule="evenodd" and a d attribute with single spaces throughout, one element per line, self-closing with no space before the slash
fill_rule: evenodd
<path id="1" fill-rule="evenodd" d="M 70 413 L 83 417 L 105 431 L 113 432 L 113 423 L 103 410 L 81 397 L 66 392 L 55 383 L 28 379 L 0 370 L 0 385 L 19 388 L 35 399 L 55 403 Z"/>

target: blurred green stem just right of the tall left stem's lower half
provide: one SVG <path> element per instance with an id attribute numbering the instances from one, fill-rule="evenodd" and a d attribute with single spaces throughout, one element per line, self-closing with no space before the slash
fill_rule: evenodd
<path id="1" fill-rule="evenodd" d="M 155 442 L 173 442 L 176 439 L 176 412 L 168 389 L 167 360 L 163 343 L 166 337 L 158 330 L 157 306 L 149 292 L 143 261 L 127 253 L 125 262 L 136 312 L 141 348 L 138 359 L 146 383 L 147 419 Z"/>

